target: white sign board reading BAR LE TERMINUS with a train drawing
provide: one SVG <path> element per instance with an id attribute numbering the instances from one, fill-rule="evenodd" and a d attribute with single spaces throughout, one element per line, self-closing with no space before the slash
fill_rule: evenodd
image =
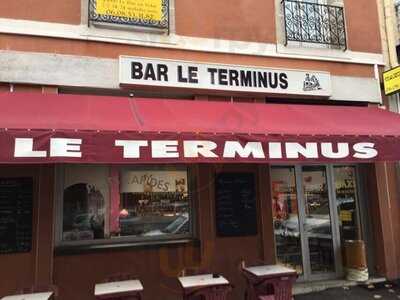
<path id="1" fill-rule="evenodd" d="M 203 90 L 324 96 L 332 94 L 326 72 L 217 65 L 120 57 L 120 84 Z"/>

